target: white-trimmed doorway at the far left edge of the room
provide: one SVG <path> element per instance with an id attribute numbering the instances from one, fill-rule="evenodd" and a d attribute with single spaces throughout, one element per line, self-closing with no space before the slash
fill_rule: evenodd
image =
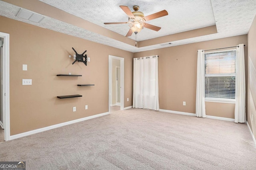
<path id="1" fill-rule="evenodd" d="M 4 141 L 10 140 L 10 71 L 9 71 L 10 35 L 0 32 L 0 126 L 4 131 Z M 2 141 L 2 136 L 0 136 Z"/>

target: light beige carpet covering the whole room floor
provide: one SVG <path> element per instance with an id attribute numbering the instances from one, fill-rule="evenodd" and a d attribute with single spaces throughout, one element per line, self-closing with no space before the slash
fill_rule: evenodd
<path id="1" fill-rule="evenodd" d="M 256 169 L 246 124 L 128 109 L 0 143 L 27 170 Z"/>

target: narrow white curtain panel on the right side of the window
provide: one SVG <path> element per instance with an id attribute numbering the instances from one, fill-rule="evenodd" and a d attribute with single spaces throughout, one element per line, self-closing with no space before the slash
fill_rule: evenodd
<path id="1" fill-rule="evenodd" d="M 244 68 L 244 44 L 236 47 L 236 106 L 235 122 L 245 123 L 245 68 Z"/>

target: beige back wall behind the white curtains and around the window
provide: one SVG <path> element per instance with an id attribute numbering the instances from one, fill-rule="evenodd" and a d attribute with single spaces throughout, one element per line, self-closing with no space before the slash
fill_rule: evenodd
<path id="1" fill-rule="evenodd" d="M 232 47 L 240 43 L 247 44 L 247 35 L 143 51 L 135 53 L 134 57 L 159 55 L 160 109 L 195 113 L 198 49 Z M 247 46 L 244 51 L 247 62 Z M 186 106 L 183 106 L 183 101 Z M 206 102 L 206 115 L 234 118 L 234 104 Z"/>

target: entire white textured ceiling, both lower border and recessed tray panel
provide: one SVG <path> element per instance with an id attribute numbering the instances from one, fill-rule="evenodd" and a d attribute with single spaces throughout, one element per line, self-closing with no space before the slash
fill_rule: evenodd
<path id="1" fill-rule="evenodd" d="M 70 14 L 88 20 L 92 23 L 110 29 L 121 35 L 126 35 L 129 30 L 127 24 L 104 25 L 104 22 L 123 22 L 128 20 L 128 16 L 121 10 L 120 5 L 128 6 L 131 11 L 132 6 L 140 6 L 141 12 L 145 16 L 154 14 L 161 10 L 167 10 L 168 16 L 147 21 L 152 25 L 162 27 L 160 31 L 143 29 L 137 34 L 137 41 L 161 37 L 183 31 L 198 29 L 215 25 L 218 33 L 172 41 L 173 45 L 182 45 L 199 41 L 207 41 L 223 37 L 244 35 L 248 33 L 250 25 L 256 14 L 256 0 L 40 0 L 46 4 L 64 10 Z M 20 20 L 40 27 L 52 29 L 54 31 L 66 33 L 76 37 L 81 37 L 102 43 L 119 49 L 131 52 L 158 49 L 169 46 L 159 44 L 137 48 L 115 39 L 99 35 L 86 29 L 64 23 L 54 18 L 47 17 L 41 23 L 17 18 L 20 7 L 0 1 L 0 15 Z M 133 34 L 131 39 L 135 39 Z"/>

